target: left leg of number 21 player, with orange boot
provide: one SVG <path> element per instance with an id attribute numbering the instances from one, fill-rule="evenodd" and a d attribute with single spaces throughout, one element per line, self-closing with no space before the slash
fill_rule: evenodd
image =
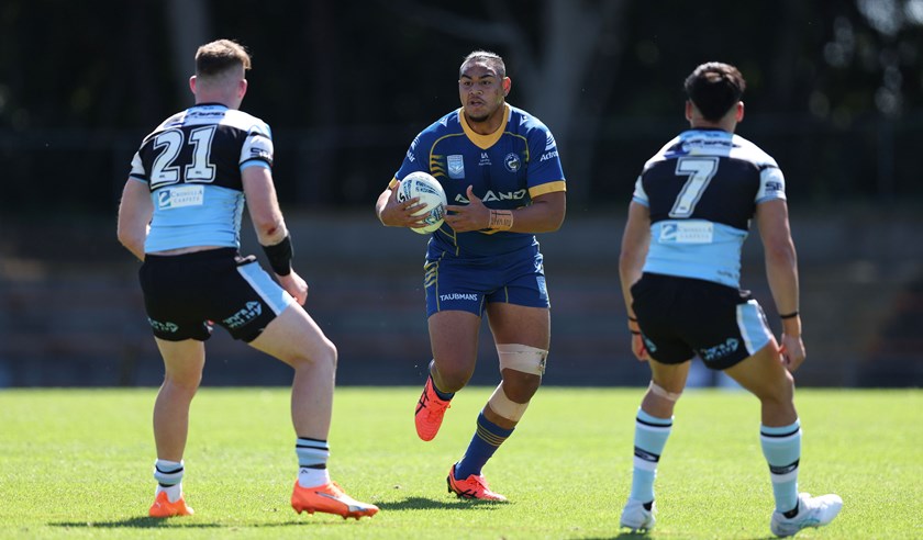
<path id="1" fill-rule="evenodd" d="M 193 511 L 182 497 L 182 454 L 189 434 L 189 406 L 202 380 L 205 349 L 202 341 L 194 339 L 155 339 L 164 358 L 165 374 L 154 402 L 157 491 L 148 514 L 152 517 L 186 516 Z"/>

